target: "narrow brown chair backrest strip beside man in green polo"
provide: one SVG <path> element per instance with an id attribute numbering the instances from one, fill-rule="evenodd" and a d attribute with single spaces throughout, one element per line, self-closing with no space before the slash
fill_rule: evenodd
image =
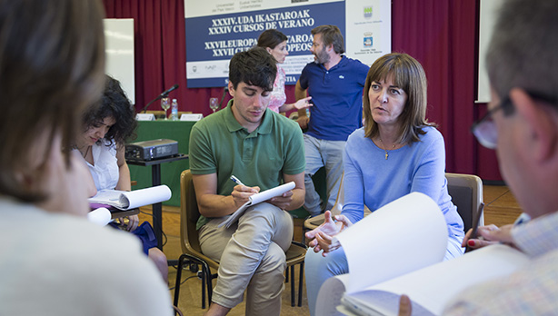
<path id="1" fill-rule="evenodd" d="M 190 169 L 180 174 L 180 237 L 182 251 L 202 252 L 195 224 L 200 217 Z"/>

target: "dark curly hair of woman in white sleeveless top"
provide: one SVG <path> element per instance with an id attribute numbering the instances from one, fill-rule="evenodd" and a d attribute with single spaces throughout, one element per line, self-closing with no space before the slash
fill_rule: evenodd
<path id="1" fill-rule="evenodd" d="M 84 114 L 84 128 L 87 131 L 92 126 L 103 123 L 106 117 L 112 116 L 116 123 L 105 134 L 105 140 L 114 141 L 122 145 L 135 138 L 135 110 L 126 97 L 120 82 L 106 75 L 103 99 L 95 106 L 89 107 Z"/>

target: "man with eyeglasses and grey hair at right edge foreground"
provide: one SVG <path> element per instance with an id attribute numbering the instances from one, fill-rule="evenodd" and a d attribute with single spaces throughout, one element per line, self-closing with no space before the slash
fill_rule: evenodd
<path id="1" fill-rule="evenodd" d="M 480 227 L 482 238 L 465 236 L 463 243 L 472 248 L 511 244 L 531 262 L 504 279 L 463 291 L 443 314 L 558 313 L 557 13 L 558 1 L 503 3 L 486 55 L 492 102 L 473 124 L 479 142 L 496 149 L 503 178 L 531 220 L 501 229 Z M 411 315 L 406 296 L 399 314 Z"/>

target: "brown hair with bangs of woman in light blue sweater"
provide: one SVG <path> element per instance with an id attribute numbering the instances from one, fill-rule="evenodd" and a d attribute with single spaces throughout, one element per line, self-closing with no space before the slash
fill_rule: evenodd
<path id="1" fill-rule="evenodd" d="M 378 124 L 372 119 L 368 91 L 374 81 L 385 80 L 394 76 L 394 84 L 404 90 L 407 101 L 398 120 L 401 123 L 398 143 L 414 143 L 419 141 L 424 126 L 435 126 L 426 120 L 426 74 L 423 66 L 408 54 L 384 54 L 370 67 L 366 75 L 363 92 L 364 135 L 374 138 L 378 135 Z"/>

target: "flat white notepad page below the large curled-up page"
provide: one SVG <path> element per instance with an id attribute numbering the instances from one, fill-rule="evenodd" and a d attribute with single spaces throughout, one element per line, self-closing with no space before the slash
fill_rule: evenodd
<path id="1" fill-rule="evenodd" d="M 399 297 L 407 294 L 413 302 L 413 315 L 441 315 L 460 292 L 468 288 L 474 291 L 473 285 L 504 277 L 528 263 L 523 252 L 494 244 L 347 296 L 374 306 L 384 315 L 397 315 Z"/>

